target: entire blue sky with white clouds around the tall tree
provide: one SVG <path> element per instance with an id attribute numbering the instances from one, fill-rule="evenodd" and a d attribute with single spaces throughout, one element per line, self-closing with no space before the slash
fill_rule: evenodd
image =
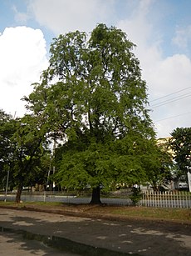
<path id="1" fill-rule="evenodd" d="M 24 113 L 20 98 L 47 68 L 52 38 L 105 23 L 137 45 L 158 137 L 190 127 L 190 10 L 190 0 L 0 0 L 0 108 Z"/>

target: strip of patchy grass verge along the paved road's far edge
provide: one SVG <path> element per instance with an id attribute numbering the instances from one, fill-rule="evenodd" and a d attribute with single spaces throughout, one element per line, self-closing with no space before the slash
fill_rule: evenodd
<path id="1" fill-rule="evenodd" d="M 78 204 L 68 205 L 66 203 L 44 203 L 44 202 L 25 202 L 13 203 L 0 201 L 0 207 L 15 207 L 15 208 L 43 208 L 45 210 L 59 210 L 64 212 L 99 214 L 99 216 L 113 215 L 127 218 L 154 218 L 161 220 L 172 220 L 179 222 L 191 223 L 190 208 L 149 208 L 149 207 L 121 207 L 107 205 L 90 205 Z"/>

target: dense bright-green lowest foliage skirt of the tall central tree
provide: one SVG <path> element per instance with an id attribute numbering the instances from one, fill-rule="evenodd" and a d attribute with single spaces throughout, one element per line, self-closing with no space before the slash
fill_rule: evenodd
<path id="1" fill-rule="evenodd" d="M 68 142 L 56 148 L 56 181 L 66 188 L 96 188 L 99 184 L 110 188 L 112 183 L 141 183 L 146 181 L 143 153 L 128 138 L 107 143 Z M 80 147 L 80 148 L 78 148 Z"/>

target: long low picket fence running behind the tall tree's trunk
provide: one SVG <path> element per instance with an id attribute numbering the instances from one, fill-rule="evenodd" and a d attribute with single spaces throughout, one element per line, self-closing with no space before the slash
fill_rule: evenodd
<path id="1" fill-rule="evenodd" d="M 133 205 L 130 195 L 132 193 L 127 190 L 122 193 L 101 193 L 100 199 L 102 203 L 113 205 Z M 13 201 L 16 193 L 7 193 L 7 201 Z M 5 195 L 0 194 L 0 200 L 4 200 Z M 22 201 L 42 201 L 42 202 L 62 202 L 62 203 L 90 203 L 91 193 L 85 192 L 22 192 Z M 153 192 L 145 191 L 142 193 L 138 206 L 158 207 L 158 208 L 191 208 L 191 193 L 184 191 L 174 192 Z"/>

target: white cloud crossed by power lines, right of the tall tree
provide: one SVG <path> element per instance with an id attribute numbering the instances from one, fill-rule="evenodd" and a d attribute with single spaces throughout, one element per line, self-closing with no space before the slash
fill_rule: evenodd
<path id="1" fill-rule="evenodd" d="M 151 108 L 159 106 L 154 107 L 151 113 L 151 117 L 156 121 L 155 126 L 159 136 L 169 136 L 169 133 L 177 127 L 190 127 L 190 59 L 184 54 L 175 54 L 161 60 L 154 66 L 152 72 L 146 75 L 152 98 L 171 94 L 150 103 Z M 175 93 L 178 91 L 179 93 Z"/>

